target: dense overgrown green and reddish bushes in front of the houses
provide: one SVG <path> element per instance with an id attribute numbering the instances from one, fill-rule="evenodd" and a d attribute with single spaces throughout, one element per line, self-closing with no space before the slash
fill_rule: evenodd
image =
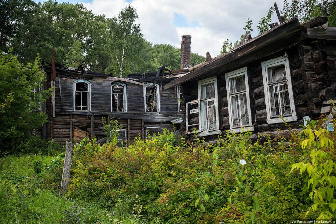
<path id="1" fill-rule="evenodd" d="M 321 123 L 254 142 L 249 132 L 226 133 L 205 146 L 176 144 L 168 131 L 127 147 L 85 139 L 75 145 L 67 197 L 165 223 L 334 219 L 336 137 Z"/>

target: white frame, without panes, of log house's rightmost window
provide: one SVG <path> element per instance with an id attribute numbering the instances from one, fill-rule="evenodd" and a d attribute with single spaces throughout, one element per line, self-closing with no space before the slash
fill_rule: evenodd
<path id="1" fill-rule="evenodd" d="M 268 80 L 268 75 L 267 75 L 267 69 L 270 67 L 278 66 L 278 65 L 285 65 L 287 80 L 279 81 L 278 83 L 268 84 L 269 80 Z M 263 79 L 264 92 L 265 92 L 267 123 L 274 124 L 274 123 L 283 122 L 283 120 L 280 117 L 272 118 L 271 102 L 270 102 L 270 86 L 277 85 L 279 83 L 285 83 L 285 82 L 287 82 L 287 85 L 288 85 L 289 102 L 290 102 L 290 108 L 291 108 L 292 114 L 290 116 L 283 117 L 283 119 L 286 121 L 296 121 L 298 118 L 296 116 L 293 85 L 292 85 L 292 78 L 291 78 L 291 73 L 290 73 L 288 54 L 285 53 L 284 56 L 262 62 L 261 70 L 262 70 L 262 79 Z M 279 106 L 279 108 L 281 110 L 281 105 Z"/>

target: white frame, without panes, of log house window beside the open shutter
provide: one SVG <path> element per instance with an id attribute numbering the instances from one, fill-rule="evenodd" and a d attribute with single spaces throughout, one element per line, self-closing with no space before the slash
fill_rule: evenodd
<path id="1" fill-rule="evenodd" d="M 206 85 L 208 83 L 214 83 L 214 90 L 215 90 L 215 97 L 214 97 L 214 101 L 215 101 L 215 114 L 216 114 L 216 128 L 209 130 L 207 127 L 206 129 L 204 129 L 202 131 L 202 116 L 204 116 L 205 114 L 205 118 L 207 118 L 207 107 L 203 108 L 201 101 L 206 101 L 206 103 L 208 102 L 209 99 L 213 99 L 213 98 L 209 98 L 209 99 L 202 99 L 202 86 Z M 214 134 L 219 134 L 220 130 L 219 130 L 219 115 L 218 115 L 218 88 L 217 88 L 217 77 L 211 77 L 211 78 L 207 78 L 207 79 L 203 79 L 198 81 L 198 116 L 199 116 L 199 136 L 206 136 L 206 135 L 214 135 Z M 205 123 L 207 121 L 205 120 Z M 205 124 L 207 126 L 207 124 Z"/>

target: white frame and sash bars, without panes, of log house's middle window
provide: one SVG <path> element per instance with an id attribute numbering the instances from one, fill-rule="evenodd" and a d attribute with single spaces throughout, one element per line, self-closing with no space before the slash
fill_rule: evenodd
<path id="1" fill-rule="evenodd" d="M 233 92 L 231 86 L 231 80 L 236 79 L 238 77 L 244 77 L 245 79 L 245 90 Z M 253 131 L 254 126 L 252 126 L 252 111 L 251 111 L 251 100 L 250 100 L 250 85 L 249 85 L 249 77 L 247 73 L 247 67 L 237 69 L 232 72 L 225 73 L 225 82 L 226 82 L 226 93 L 227 93 L 227 106 L 229 112 L 229 124 L 230 124 L 230 132 L 243 132 L 243 131 Z M 247 115 L 248 115 L 248 123 L 246 125 L 242 125 L 242 110 L 241 110 L 241 98 L 245 94 L 246 99 L 246 107 L 247 107 Z M 239 111 L 239 118 L 234 119 L 234 102 L 232 102 L 232 97 L 238 96 L 238 111 Z M 239 126 L 234 125 L 234 120 L 240 120 Z"/>

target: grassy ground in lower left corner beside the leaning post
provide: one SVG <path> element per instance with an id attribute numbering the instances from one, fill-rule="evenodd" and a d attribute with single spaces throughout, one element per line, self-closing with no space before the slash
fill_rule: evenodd
<path id="1" fill-rule="evenodd" d="M 40 160 L 46 169 L 51 158 L 41 155 L 0 158 L 0 223 L 143 223 L 99 204 L 59 199 L 58 192 L 48 189 L 33 168 L 34 161 Z"/>

